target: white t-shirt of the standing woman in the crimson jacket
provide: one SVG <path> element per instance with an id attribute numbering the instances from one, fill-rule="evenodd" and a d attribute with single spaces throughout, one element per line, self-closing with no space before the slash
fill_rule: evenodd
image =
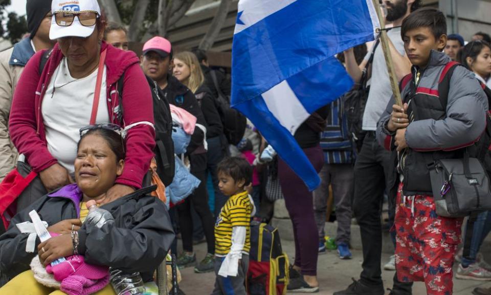
<path id="1" fill-rule="evenodd" d="M 48 150 L 72 175 L 80 139 L 79 130 L 90 124 L 98 71 L 96 69 L 87 77 L 75 79 L 70 75 L 66 58 L 63 58 L 42 99 L 41 113 Z M 96 123 L 108 122 L 104 66 Z"/>

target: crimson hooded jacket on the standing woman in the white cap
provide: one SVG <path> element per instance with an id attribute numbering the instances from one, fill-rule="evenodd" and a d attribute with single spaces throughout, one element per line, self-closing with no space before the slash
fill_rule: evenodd
<path id="1" fill-rule="evenodd" d="M 116 183 L 141 188 L 155 146 L 152 95 L 140 68 L 140 61 L 134 52 L 121 51 L 103 42 L 101 51 L 104 49 L 107 49 L 105 66 L 109 119 L 111 123 L 118 124 L 122 128 L 130 127 L 126 130 L 124 170 L 116 179 Z M 48 151 L 41 100 L 63 54 L 56 44 L 42 74 L 39 75 L 39 62 L 44 52 L 46 51 L 37 52 L 20 76 L 14 92 L 9 120 L 13 143 L 19 153 L 26 156 L 27 162 L 36 172 L 57 163 L 57 159 Z M 119 122 L 117 82 L 123 73 L 125 73 L 123 122 Z"/>

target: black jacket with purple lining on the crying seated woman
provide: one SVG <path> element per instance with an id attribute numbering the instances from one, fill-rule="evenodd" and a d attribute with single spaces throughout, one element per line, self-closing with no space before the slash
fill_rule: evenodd
<path id="1" fill-rule="evenodd" d="M 91 264 L 107 265 L 125 272 L 139 271 L 145 282 L 152 280 L 153 271 L 164 260 L 174 239 L 174 231 L 164 203 L 149 196 L 152 187 L 105 204 L 114 217 L 114 224 L 102 228 L 84 223 L 78 231 L 79 254 Z M 0 236 L 0 269 L 9 278 L 29 270 L 37 255 L 26 252 L 28 234 L 21 234 L 16 224 L 31 221 L 29 212 L 36 210 L 41 220 L 53 225 L 65 219 L 79 218 L 82 193 L 76 184 L 64 186 L 46 195 L 12 219 L 5 234 Z"/>

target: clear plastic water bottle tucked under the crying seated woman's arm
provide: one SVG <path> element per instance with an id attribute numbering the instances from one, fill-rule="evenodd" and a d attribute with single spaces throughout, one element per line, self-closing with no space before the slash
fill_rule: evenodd
<path id="1" fill-rule="evenodd" d="M 87 201 L 87 225 L 101 228 L 106 223 L 114 223 L 114 217 L 105 209 L 97 207 L 96 201 Z M 110 267 L 110 281 L 117 295 L 137 295 L 145 293 L 145 285 L 140 272 L 124 273 L 122 270 Z"/>

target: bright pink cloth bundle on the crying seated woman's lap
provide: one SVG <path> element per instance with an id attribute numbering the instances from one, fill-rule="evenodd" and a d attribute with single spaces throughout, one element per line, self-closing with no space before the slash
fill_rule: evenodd
<path id="1" fill-rule="evenodd" d="M 95 293 L 109 283 L 109 268 L 85 263 L 83 256 L 65 257 L 66 261 L 55 266 L 48 265 L 46 271 L 53 273 L 61 282 L 60 289 L 69 295 Z"/>

